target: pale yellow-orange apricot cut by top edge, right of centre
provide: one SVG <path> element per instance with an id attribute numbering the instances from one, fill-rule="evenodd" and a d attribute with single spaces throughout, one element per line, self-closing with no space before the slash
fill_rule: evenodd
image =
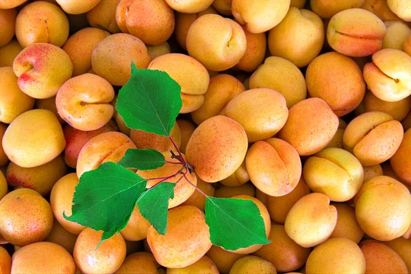
<path id="1" fill-rule="evenodd" d="M 256 1 L 253 5 L 245 0 L 232 0 L 234 18 L 253 34 L 266 32 L 278 25 L 289 8 L 290 0 Z"/>

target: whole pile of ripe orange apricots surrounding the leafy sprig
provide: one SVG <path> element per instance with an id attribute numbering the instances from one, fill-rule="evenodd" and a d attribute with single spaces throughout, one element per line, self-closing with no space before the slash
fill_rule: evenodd
<path id="1" fill-rule="evenodd" d="M 0 0 L 0 27 L 0 273 L 411 273 L 410 0 Z M 96 249 L 63 217 L 79 177 L 172 159 L 116 112 L 132 61 L 181 86 L 195 173 L 164 236 L 137 207 Z M 271 243 L 212 245 L 187 180 L 256 203 Z"/>

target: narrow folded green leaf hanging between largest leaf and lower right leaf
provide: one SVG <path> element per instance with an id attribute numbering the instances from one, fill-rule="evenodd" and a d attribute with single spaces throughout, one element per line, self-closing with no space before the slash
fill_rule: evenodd
<path id="1" fill-rule="evenodd" d="M 164 235 L 167 231 L 169 199 L 174 198 L 175 184 L 163 182 L 147 189 L 137 201 L 138 210 L 155 230 Z"/>

